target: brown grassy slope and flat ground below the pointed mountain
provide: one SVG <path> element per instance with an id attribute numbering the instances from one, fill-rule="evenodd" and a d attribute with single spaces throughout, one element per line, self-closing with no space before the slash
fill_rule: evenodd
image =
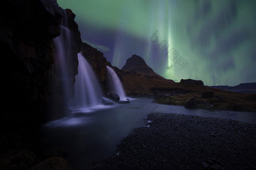
<path id="1" fill-rule="evenodd" d="M 155 99 L 159 104 L 185 106 L 191 98 L 196 98 L 199 109 L 256 111 L 256 94 L 236 93 L 208 86 L 201 87 L 166 79 L 148 78 L 143 74 L 127 74 L 122 77 L 122 84 L 128 95 L 147 96 L 161 93 L 170 95 Z M 202 98 L 204 91 L 214 92 L 215 97 Z"/>

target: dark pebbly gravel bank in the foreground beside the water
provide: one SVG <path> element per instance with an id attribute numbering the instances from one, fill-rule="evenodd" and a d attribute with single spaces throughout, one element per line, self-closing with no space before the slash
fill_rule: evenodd
<path id="1" fill-rule="evenodd" d="M 148 121 L 93 169 L 256 169 L 254 124 L 166 113 L 151 113 Z"/>

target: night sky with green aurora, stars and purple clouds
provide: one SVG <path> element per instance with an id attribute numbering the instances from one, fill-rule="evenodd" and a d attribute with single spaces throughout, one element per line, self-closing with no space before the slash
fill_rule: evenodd
<path id="1" fill-rule="evenodd" d="M 57 0 L 81 39 L 121 69 L 133 54 L 155 73 L 204 85 L 256 82 L 255 0 Z"/>

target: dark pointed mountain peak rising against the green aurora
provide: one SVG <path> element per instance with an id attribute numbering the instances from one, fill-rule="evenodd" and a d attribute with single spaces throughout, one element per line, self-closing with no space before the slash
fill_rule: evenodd
<path id="1" fill-rule="evenodd" d="M 142 73 L 145 75 L 158 76 L 163 78 L 162 76 L 155 73 L 154 70 L 146 64 L 142 57 L 135 54 L 126 60 L 126 63 L 121 70 Z"/>

